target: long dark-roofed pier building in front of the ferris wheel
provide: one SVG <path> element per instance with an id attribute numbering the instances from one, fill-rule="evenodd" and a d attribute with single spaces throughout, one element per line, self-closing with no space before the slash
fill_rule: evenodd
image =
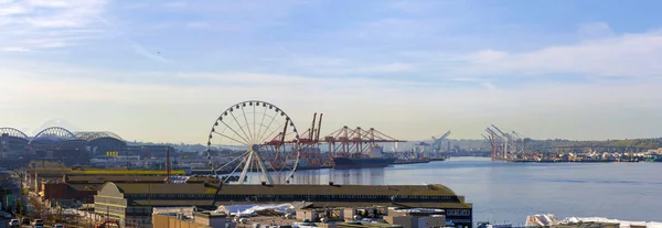
<path id="1" fill-rule="evenodd" d="M 444 185 L 210 185 L 106 183 L 95 196 L 95 213 L 122 224 L 151 222 L 153 207 L 211 207 L 236 202 L 309 202 L 309 207 L 388 206 L 440 208 L 446 220 L 472 226 L 472 205 Z"/>

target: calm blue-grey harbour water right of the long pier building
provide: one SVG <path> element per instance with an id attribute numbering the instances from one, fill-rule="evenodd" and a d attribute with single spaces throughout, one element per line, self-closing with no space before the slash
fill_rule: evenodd
<path id="1" fill-rule="evenodd" d="M 296 183 L 444 184 L 473 203 L 473 219 L 527 215 L 662 221 L 662 163 L 503 163 L 484 158 L 386 169 L 300 171 Z"/>

